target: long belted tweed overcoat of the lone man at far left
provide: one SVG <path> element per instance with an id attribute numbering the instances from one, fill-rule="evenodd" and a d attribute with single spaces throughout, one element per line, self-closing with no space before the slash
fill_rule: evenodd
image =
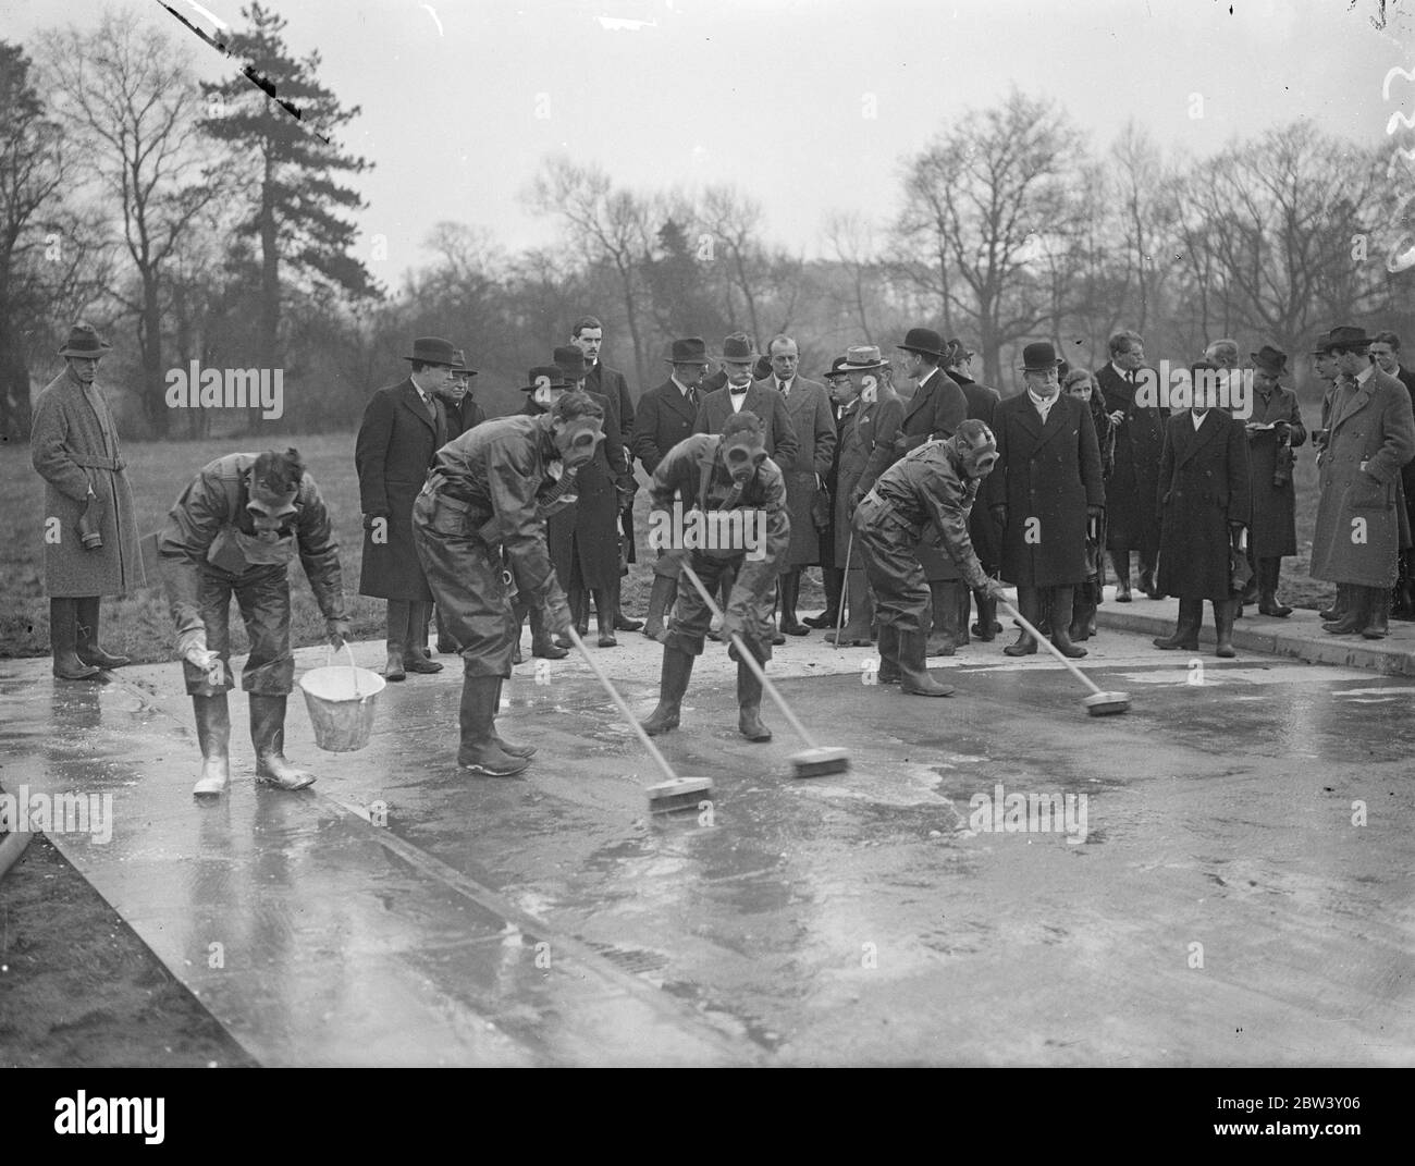
<path id="1" fill-rule="evenodd" d="M 85 392 L 65 366 L 44 388 L 34 402 L 30 460 L 45 483 L 44 590 L 52 599 L 72 599 L 120 596 L 144 586 L 133 491 L 98 381 Z M 89 487 L 102 507 L 103 546 L 93 550 L 83 549 L 75 529 Z"/>

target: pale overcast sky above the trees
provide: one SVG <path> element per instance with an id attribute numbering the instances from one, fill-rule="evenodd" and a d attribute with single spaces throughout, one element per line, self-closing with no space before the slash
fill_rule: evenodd
<path id="1" fill-rule="evenodd" d="M 190 0 L 170 0 L 211 27 Z M 734 183 L 766 231 L 807 255 L 835 209 L 884 218 L 901 158 L 1012 83 L 1057 99 L 1095 147 L 1131 117 L 1166 150 L 1204 156 L 1298 116 L 1380 144 L 1415 113 L 1415 3 L 1390 0 L 272 0 L 297 55 L 362 106 L 341 142 L 376 163 L 354 181 L 375 275 L 427 262 L 440 219 L 488 228 L 508 249 L 555 228 L 521 192 L 556 151 L 641 191 Z M 1392 7 L 1394 6 L 1394 7 Z M 96 25 L 98 0 L 0 0 L 0 35 Z M 231 25 L 236 0 L 202 0 Z M 1230 13 L 1230 7 L 1232 11 Z M 1404 7 L 1404 11 L 1402 11 Z M 231 62 L 156 0 L 204 79 Z M 608 27 L 607 27 L 608 25 Z M 618 27 L 613 27 L 618 25 Z M 1201 96 L 1201 116 L 1191 95 Z M 546 116 L 548 115 L 548 116 Z M 869 116 L 873 115 L 873 116 Z M 368 258 L 365 253 L 364 258 Z"/>

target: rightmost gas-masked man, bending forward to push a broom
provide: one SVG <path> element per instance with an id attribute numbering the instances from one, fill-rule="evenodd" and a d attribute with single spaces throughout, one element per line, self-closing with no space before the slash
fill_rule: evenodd
<path id="1" fill-rule="evenodd" d="M 874 589 L 880 621 L 882 685 L 897 683 L 911 696 L 952 696 L 927 666 L 931 599 L 916 548 L 941 548 L 974 591 L 996 601 L 1005 589 L 978 562 L 968 516 L 978 485 L 998 461 L 992 430 L 976 419 L 941 441 L 927 441 L 879 475 L 852 519 Z"/>

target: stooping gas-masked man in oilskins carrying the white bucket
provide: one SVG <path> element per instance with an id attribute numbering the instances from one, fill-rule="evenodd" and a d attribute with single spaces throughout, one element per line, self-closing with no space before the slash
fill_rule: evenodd
<path id="1" fill-rule="evenodd" d="M 348 621 L 338 543 L 299 451 L 232 453 L 208 464 L 167 514 L 157 553 L 197 713 L 202 764 L 192 794 L 221 794 L 231 780 L 232 594 L 250 640 L 241 688 L 250 693 L 256 780 L 282 790 L 310 785 L 314 778 L 284 758 L 286 699 L 294 686 L 289 563 L 296 553 L 333 647 L 344 647 Z"/>

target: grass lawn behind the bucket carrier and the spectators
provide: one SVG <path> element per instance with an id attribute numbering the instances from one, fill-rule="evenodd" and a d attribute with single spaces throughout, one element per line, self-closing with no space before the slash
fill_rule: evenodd
<path id="1" fill-rule="evenodd" d="M 325 433 L 320 436 L 265 436 L 260 443 L 250 439 L 212 439 L 205 441 L 127 441 L 127 477 L 133 487 L 133 502 L 142 532 L 157 529 L 177 495 L 195 473 L 215 457 L 256 444 L 269 449 L 296 446 L 306 458 L 314 480 L 320 484 L 334 515 L 344 563 L 344 590 L 354 625 L 354 638 L 379 640 L 383 635 L 383 601 L 357 594 L 362 549 L 362 525 L 358 509 L 358 477 L 354 473 L 354 433 Z M 1316 464 L 1310 447 L 1299 451 L 1295 473 L 1298 483 L 1298 549 L 1295 559 L 1283 560 L 1282 596 L 1295 606 L 1319 607 L 1333 587 L 1307 579 L 1312 559 L 1312 528 L 1316 521 Z M 642 471 L 640 471 L 642 481 Z M 6 603 L 0 611 L 0 657 L 48 655 L 50 606 L 44 594 L 42 515 L 44 481 L 30 466 L 27 446 L 0 447 L 0 545 L 7 549 L 3 566 Z M 648 492 L 641 490 L 635 502 L 635 525 L 640 531 L 640 562 L 630 567 L 624 580 L 624 613 L 642 618 L 648 603 L 652 575 L 647 559 L 652 552 L 642 546 L 648 519 Z M 324 638 L 324 620 L 304 583 L 304 573 L 294 565 L 293 641 L 296 647 L 318 644 Z M 824 606 L 819 572 L 811 570 L 802 580 L 801 611 L 811 613 Z M 103 647 L 133 657 L 139 662 L 174 659 L 174 634 L 167 604 L 160 589 L 147 587 L 125 599 L 110 599 L 103 604 Z M 245 655 L 246 640 L 241 620 L 233 616 L 233 655 Z"/>

